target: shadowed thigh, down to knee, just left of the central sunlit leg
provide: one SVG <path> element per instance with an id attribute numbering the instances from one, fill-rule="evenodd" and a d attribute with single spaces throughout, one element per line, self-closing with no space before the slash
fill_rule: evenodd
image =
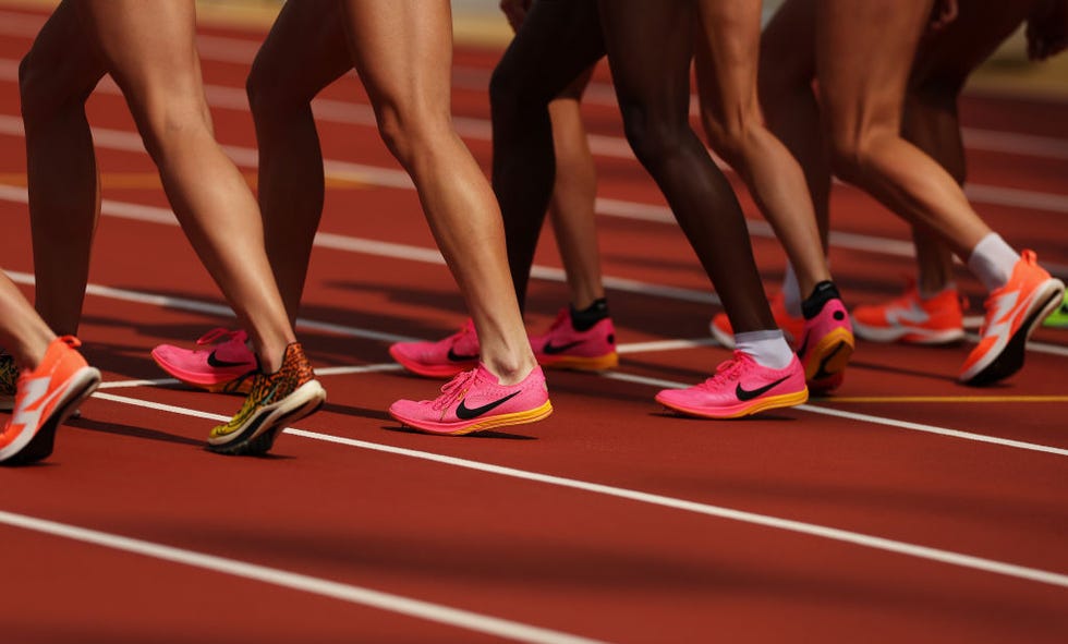
<path id="1" fill-rule="evenodd" d="M 307 101 L 352 69 L 338 0 L 282 5 L 248 74 L 250 87 Z"/>

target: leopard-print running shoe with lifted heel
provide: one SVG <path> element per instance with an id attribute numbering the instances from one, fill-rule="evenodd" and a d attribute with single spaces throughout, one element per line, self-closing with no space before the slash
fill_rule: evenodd
<path id="1" fill-rule="evenodd" d="M 211 429 L 208 449 L 223 454 L 264 454 L 286 424 L 323 405 L 326 391 L 300 342 L 286 348 L 282 366 L 274 374 L 257 372 L 241 410 L 226 425 Z"/>

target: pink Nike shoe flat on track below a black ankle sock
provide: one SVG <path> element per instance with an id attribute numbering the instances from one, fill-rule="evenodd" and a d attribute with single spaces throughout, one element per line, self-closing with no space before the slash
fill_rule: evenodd
<path id="1" fill-rule="evenodd" d="M 609 317 L 579 331 L 571 323 L 570 308 L 565 306 L 548 331 L 530 338 L 534 357 L 543 367 L 603 372 L 619 366 L 616 328 Z"/>

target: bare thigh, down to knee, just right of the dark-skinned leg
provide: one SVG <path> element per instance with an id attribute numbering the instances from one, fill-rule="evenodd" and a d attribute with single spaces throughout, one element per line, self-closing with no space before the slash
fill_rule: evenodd
<path id="1" fill-rule="evenodd" d="M 757 109 L 761 3 L 700 0 L 694 64 L 702 109 L 716 121 Z"/>

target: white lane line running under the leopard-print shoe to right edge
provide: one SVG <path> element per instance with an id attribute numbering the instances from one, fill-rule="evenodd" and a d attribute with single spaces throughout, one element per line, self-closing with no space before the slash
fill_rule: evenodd
<path id="1" fill-rule="evenodd" d="M 211 414 L 199 410 L 191 410 L 191 409 L 169 405 L 169 404 L 159 404 L 159 403 L 155 403 L 151 401 L 142 400 L 137 398 L 128 398 L 123 396 L 113 396 L 110 393 L 99 393 L 99 392 L 95 393 L 94 397 L 100 398 L 102 400 L 122 403 L 122 404 L 130 404 L 134 406 L 147 408 L 157 411 L 170 412 L 174 414 L 181 414 L 181 415 L 193 416 L 198 418 L 210 418 L 219 422 L 226 422 L 227 420 L 229 420 L 227 416 L 222 416 L 219 414 Z M 682 510 L 684 512 L 692 512 L 696 514 L 703 514 L 706 517 L 715 517 L 718 519 L 726 519 L 729 521 L 737 521 L 740 523 L 761 525 L 764 527 L 770 527 L 770 528 L 792 532 L 797 534 L 804 534 L 809 536 L 815 536 L 815 537 L 830 539 L 840 543 L 853 544 L 857 546 L 872 548 L 875 550 L 895 552 L 898 555 L 906 555 L 919 559 L 937 561 L 940 563 L 948 563 L 950 566 L 958 566 L 961 568 L 980 570 L 984 572 L 991 572 L 995 574 L 1002 574 L 1016 579 L 1022 579 L 1022 580 L 1068 588 L 1068 575 L 1066 574 L 1052 572 L 1047 570 L 1041 570 L 1036 568 L 1024 567 L 1024 566 L 1017 566 L 1014 563 L 1007 563 L 994 559 L 986 559 L 983 557 L 974 557 L 971 555 L 964 555 L 952 550 L 932 548 L 927 546 L 911 544 L 908 542 L 889 539 L 889 538 L 884 538 L 875 535 L 869 535 L 869 534 L 848 531 L 848 530 L 840 530 L 837 527 L 820 525 L 816 523 L 794 521 L 792 519 L 782 519 L 769 514 L 760 514 L 756 512 L 749 512 L 745 510 L 736 510 L 732 508 L 725 508 L 721 506 L 713 506 L 709 503 L 689 501 L 685 499 L 678 499 L 675 497 L 668 497 L 664 495 L 650 494 L 650 493 L 644 493 L 644 491 L 639 491 L 639 490 L 633 490 L 633 489 L 628 489 L 622 487 L 615 487 L 611 485 L 590 483 L 585 481 L 579 481 L 575 478 L 567 478 L 563 476 L 555 476 L 550 474 L 529 472 L 526 470 L 519 470 L 515 467 L 509 467 L 505 465 L 495 465 L 491 463 L 483 463 L 481 461 L 448 457 L 444 454 L 425 452 L 421 450 L 393 447 L 389 445 L 381 445 L 381 443 L 369 442 L 365 440 L 356 440 L 352 438 L 335 436 L 331 434 L 323 434 L 319 432 L 307 432 L 304 429 L 298 429 L 295 427 L 289 427 L 284 430 L 284 433 L 292 434 L 293 436 L 299 436 L 301 438 L 321 440 L 326 442 L 344 445 L 348 447 L 354 447 L 359 449 L 385 452 L 385 453 L 396 454 L 405 458 L 420 459 L 424 461 L 452 465 L 456 467 L 463 467 L 466 470 L 485 472 L 498 476 L 508 476 L 511 478 L 543 483 L 546 485 L 554 485 L 557 487 L 578 489 L 578 490 L 597 494 L 602 496 L 627 499 L 627 500 L 636 501 L 640 503 L 645 503 L 651 506 L 657 506 L 662 508 Z"/>

